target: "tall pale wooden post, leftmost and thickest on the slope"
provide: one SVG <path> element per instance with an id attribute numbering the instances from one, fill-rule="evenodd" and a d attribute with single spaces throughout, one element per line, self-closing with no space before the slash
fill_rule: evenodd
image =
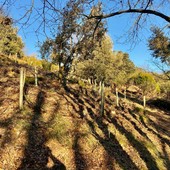
<path id="1" fill-rule="evenodd" d="M 22 67 L 20 69 L 20 94 L 19 94 L 19 108 L 20 109 L 23 109 L 24 84 L 25 84 L 25 70 Z"/>

